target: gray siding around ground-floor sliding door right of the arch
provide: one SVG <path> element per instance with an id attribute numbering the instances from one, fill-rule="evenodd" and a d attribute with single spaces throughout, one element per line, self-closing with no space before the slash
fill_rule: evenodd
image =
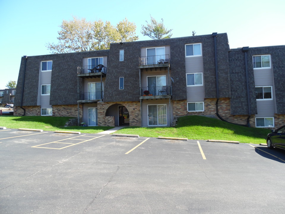
<path id="1" fill-rule="evenodd" d="M 170 122 L 173 119 L 173 111 L 172 111 L 172 103 L 170 103 L 171 111 L 169 111 L 169 100 L 162 99 L 162 100 L 143 100 L 142 102 L 142 126 L 148 126 L 148 105 L 159 105 L 159 104 L 166 104 L 167 109 L 167 126 L 170 126 Z"/>

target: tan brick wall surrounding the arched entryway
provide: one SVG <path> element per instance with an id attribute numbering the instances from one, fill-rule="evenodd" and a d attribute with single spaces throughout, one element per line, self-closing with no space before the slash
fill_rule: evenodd
<path id="1" fill-rule="evenodd" d="M 97 111 L 99 126 L 115 126 L 115 118 L 113 116 L 105 116 L 107 109 L 114 104 L 123 105 L 128 109 L 130 126 L 141 126 L 140 102 L 98 102 Z"/>

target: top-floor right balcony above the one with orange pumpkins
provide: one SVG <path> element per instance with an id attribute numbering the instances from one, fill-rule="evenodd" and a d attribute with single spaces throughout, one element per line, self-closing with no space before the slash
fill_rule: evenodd
<path id="1" fill-rule="evenodd" d="M 170 67 L 169 54 L 139 57 L 140 69 L 167 70 L 169 67 Z"/>

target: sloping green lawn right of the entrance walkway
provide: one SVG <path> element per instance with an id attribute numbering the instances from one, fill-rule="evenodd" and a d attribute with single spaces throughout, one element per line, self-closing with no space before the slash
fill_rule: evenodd
<path id="1" fill-rule="evenodd" d="M 185 116 L 178 118 L 175 128 L 126 127 L 116 133 L 138 134 L 145 137 L 182 137 L 195 140 L 230 140 L 259 144 L 266 143 L 265 138 L 268 133 L 271 133 L 271 130 L 243 127 L 202 116 Z"/>

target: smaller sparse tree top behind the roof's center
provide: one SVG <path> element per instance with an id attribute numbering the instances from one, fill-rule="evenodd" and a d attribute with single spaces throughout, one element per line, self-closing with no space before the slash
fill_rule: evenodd
<path id="1" fill-rule="evenodd" d="M 141 33 L 144 36 L 151 37 L 152 39 L 167 39 L 167 38 L 170 38 L 172 36 L 172 34 L 170 34 L 172 29 L 167 30 L 166 27 L 163 24 L 163 19 L 161 19 L 161 20 L 162 21 L 157 22 L 151 16 L 151 22 L 148 23 L 148 21 L 146 21 L 147 25 L 146 26 L 142 25 Z M 164 35 L 166 35 L 166 36 L 164 36 Z"/>

